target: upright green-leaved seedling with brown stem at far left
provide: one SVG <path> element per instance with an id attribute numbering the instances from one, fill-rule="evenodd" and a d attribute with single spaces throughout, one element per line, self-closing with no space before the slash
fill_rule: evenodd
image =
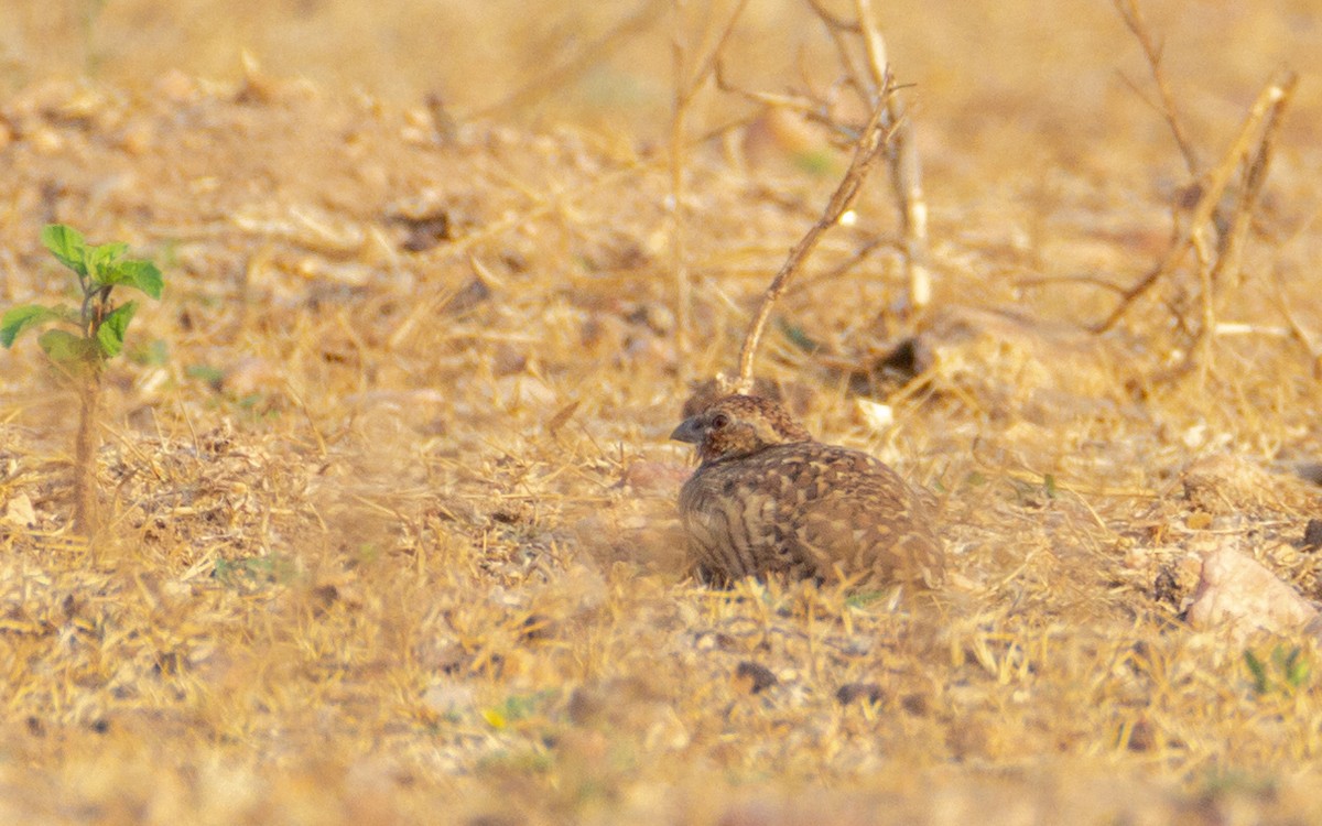
<path id="1" fill-rule="evenodd" d="M 115 304 L 116 287 L 131 287 L 160 299 L 164 282 L 149 260 L 124 258 L 128 244 L 89 244 L 62 223 L 41 230 L 41 243 L 78 280 L 78 307 L 25 304 L 0 319 L 5 348 L 26 330 L 49 326 L 37 344 L 52 365 L 78 391 L 78 436 L 74 445 L 74 529 L 89 534 L 95 510 L 97 407 L 106 362 L 124 350 L 124 333 L 137 312 L 136 301 Z"/>

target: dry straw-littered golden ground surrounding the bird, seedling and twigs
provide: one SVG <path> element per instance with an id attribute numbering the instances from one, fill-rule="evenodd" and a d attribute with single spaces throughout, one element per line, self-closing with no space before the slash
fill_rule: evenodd
<path id="1" fill-rule="evenodd" d="M 937 493 L 935 608 L 709 589 L 677 533 L 666 436 L 846 156 L 694 100 L 685 348 L 672 5 L 383 5 L 0 11 L 0 301 L 67 300 L 54 221 L 167 283 L 106 375 L 91 539 L 74 396 L 0 354 L 0 819 L 1322 819 L 1317 642 L 1181 613 L 1223 547 L 1322 599 L 1322 5 L 1144 7 L 1207 167 L 1303 74 L 1241 272 L 1204 301 L 1188 256 L 1093 334 L 1188 213 L 1137 42 L 1105 3 L 878 4 L 933 300 L 896 312 L 879 172 L 758 370 Z M 730 7 L 685 8 L 697 53 Z M 788 0 L 726 56 L 833 79 Z"/>

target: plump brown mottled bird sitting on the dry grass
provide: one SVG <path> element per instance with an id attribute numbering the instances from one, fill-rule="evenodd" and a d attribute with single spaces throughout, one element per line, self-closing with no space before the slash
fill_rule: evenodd
<path id="1" fill-rule="evenodd" d="M 944 583 L 936 498 L 867 453 L 814 440 L 780 404 L 726 395 L 670 439 L 697 445 L 680 519 L 705 582 Z"/>

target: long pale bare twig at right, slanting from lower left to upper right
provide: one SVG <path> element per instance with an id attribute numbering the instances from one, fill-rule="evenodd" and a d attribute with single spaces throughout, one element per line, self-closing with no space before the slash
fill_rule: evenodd
<path id="1" fill-rule="evenodd" d="M 1259 93 L 1257 99 L 1253 102 L 1253 107 L 1244 119 L 1235 140 L 1222 156 L 1220 163 L 1218 163 L 1216 167 L 1207 174 L 1207 182 L 1202 186 L 1202 194 L 1196 206 L 1194 206 L 1188 223 L 1177 235 L 1175 242 L 1166 252 L 1166 256 L 1157 267 L 1138 279 L 1138 282 L 1121 295 L 1120 304 L 1109 316 L 1107 316 L 1105 320 L 1092 328 L 1093 332 L 1101 333 L 1114 326 L 1138 297 L 1145 295 L 1153 288 L 1154 284 L 1157 284 L 1157 282 L 1179 266 L 1195 242 L 1195 237 L 1199 233 L 1203 233 L 1208 226 L 1222 196 L 1225 193 L 1231 176 L 1235 173 L 1235 169 L 1240 165 L 1241 160 L 1248 156 L 1255 143 L 1269 140 L 1268 131 L 1274 133 L 1276 130 L 1270 124 L 1274 124 L 1280 116 L 1281 107 L 1284 107 L 1284 104 L 1289 100 L 1296 82 L 1297 78 L 1293 73 L 1282 73 L 1281 75 L 1273 78 L 1272 82 L 1268 83 L 1261 93 Z M 1265 163 L 1269 160 L 1270 152 L 1268 151 L 1264 156 L 1260 149 L 1256 155 L 1263 157 Z M 1265 172 L 1261 174 L 1265 174 Z"/>

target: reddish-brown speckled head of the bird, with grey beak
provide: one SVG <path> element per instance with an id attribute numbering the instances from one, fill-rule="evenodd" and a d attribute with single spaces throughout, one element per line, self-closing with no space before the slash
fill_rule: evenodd
<path id="1" fill-rule="evenodd" d="M 775 445 L 812 441 L 812 436 L 771 399 L 727 395 L 689 416 L 670 437 L 698 445 L 703 463 L 747 456 Z"/>

